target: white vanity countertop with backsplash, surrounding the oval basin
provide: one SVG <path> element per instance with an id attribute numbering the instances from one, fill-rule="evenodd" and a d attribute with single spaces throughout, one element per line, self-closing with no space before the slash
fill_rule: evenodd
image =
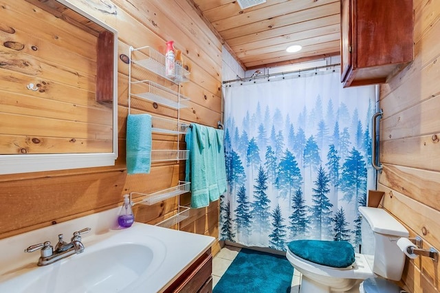
<path id="1" fill-rule="evenodd" d="M 154 265 L 142 274 L 142 278 L 133 282 L 129 287 L 115 292 L 163 292 L 168 285 L 173 283 L 203 252 L 205 252 L 215 238 L 197 235 L 189 232 L 177 231 L 168 228 L 151 226 L 148 224 L 134 223 L 126 229 L 114 228 L 116 215 L 119 208 L 87 217 L 74 219 L 54 226 L 23 233 L 14 237 L 0 240 L 0 292 L 47 292 L 47 288 L 32 287 L 26 283 L 30 279 L 39 279 L 41 276 L 56 276 L 60 269 L 57 266 L 63 262 L 75 260 L 74 258 L 87 258 L 93 252 L 99 252 L 115 244 L 140 243 L 150 246 L 153 251 Z M 58 234 L 64 233 L 65 239 L 70 239 L 71 233 L 90 227 L 92 230 L 83 235 L 85 252 L 67 257 L 57 263 L 39 267 L 39 251 L 24 253 L 28 246 L 43 241 L 56 244 Z M 68 240 L 67 240 L 68 241 Z M 121 246 L 130 247 L 130 246 Z M 118 250 L 116 250 L 118 251 Z M 119 252 L 118 252 L 119 253 Z M 120 252 L 124 257 L 124 252 Z M 69 260 L 72 258 L 71 260 Z M 93 274 L 94 272 L 90 272 Z M 23 279 L 23 276 L 26 276 Z M 28 276 L 32 276 L 29 278 Z M 142 279 L 142 280 L 141 280 Z M 13 291 L 10 289 L 13 288 Z M 8 291 L 5 291 L 8 290 Z M 66 288 L 65 292 L 84 292 L 82 289 Z M 93 291 L 92 291 L 93 292 Z M 58 292 L 57 293 L 62 293 Z"/>

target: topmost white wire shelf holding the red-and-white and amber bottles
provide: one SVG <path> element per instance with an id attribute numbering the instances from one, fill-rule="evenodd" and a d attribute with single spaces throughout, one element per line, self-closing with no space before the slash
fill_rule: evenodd
<path id="1" fill-rule="evenodd" d="M 165 56 L 163 54 L 160 54 L 156 50 L 154 50 L 152 47 L 146 46 L 146 47 L 140 47 L 140 48 L 132 48 L 132 51 L 141 51 L 142 53 L 146 54 L 148 58 L 142 59 L 142 60 L 132 60 L 133 64 L 139 65 L 140 67 L 144 67 L 145 69 L 154 72 L 155 74 L 159 74 L 159 76 L 162 76 L 168 80 L 173 81 L 173 83 L 186 83 L 190 80 L 190 72 L 186 70 L 184 67 L 179 65 L 178 63 L 175 63 L 175 76 L 168 77 L 165 75 Z"/>

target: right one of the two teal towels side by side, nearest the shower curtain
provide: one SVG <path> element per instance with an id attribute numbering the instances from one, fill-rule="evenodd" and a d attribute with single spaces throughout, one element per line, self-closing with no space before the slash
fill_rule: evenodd
<path id="1" fill-rule="evenodd" d="M 214 202 L 219 199 L 219 186 L 217 185 L 217 157 L 219 154 L 219 144 L 217 141 L 217 131 L 212 127 L 208 129 L 208 153 L 206 155 L 206 171 L 208 177 L 209 200 Z"/>

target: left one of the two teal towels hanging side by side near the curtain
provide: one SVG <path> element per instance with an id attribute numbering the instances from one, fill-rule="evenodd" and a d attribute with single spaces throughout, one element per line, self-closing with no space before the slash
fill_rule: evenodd
<path id="1" fill-rule="evenodd" d="M 190 143 L 186 147 L 190 151 L 191 208 L 209 206 L 209 188 L 206 172 L 208 153 L 208 129 L 203 125 L 192 123 L 190 127 Z"/>

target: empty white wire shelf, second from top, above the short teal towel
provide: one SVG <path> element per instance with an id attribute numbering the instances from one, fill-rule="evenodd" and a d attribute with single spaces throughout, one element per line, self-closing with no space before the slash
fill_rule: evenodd
<path id="1" fill-rule="evenodd" d="M 153 83 L 151 80 L 139 80 L 134 81 L 133 83 L 142 83 L 142 89 L 144 89 L 144 92 L 132 92 L 131 96 L 151 100 L 152 102 L 157 102 L 174 109 L 188 107 L 189 98 L 186 98 L 186 96 L 182 96 L 181 94 L 168 89 L 167 87 Z"/>

